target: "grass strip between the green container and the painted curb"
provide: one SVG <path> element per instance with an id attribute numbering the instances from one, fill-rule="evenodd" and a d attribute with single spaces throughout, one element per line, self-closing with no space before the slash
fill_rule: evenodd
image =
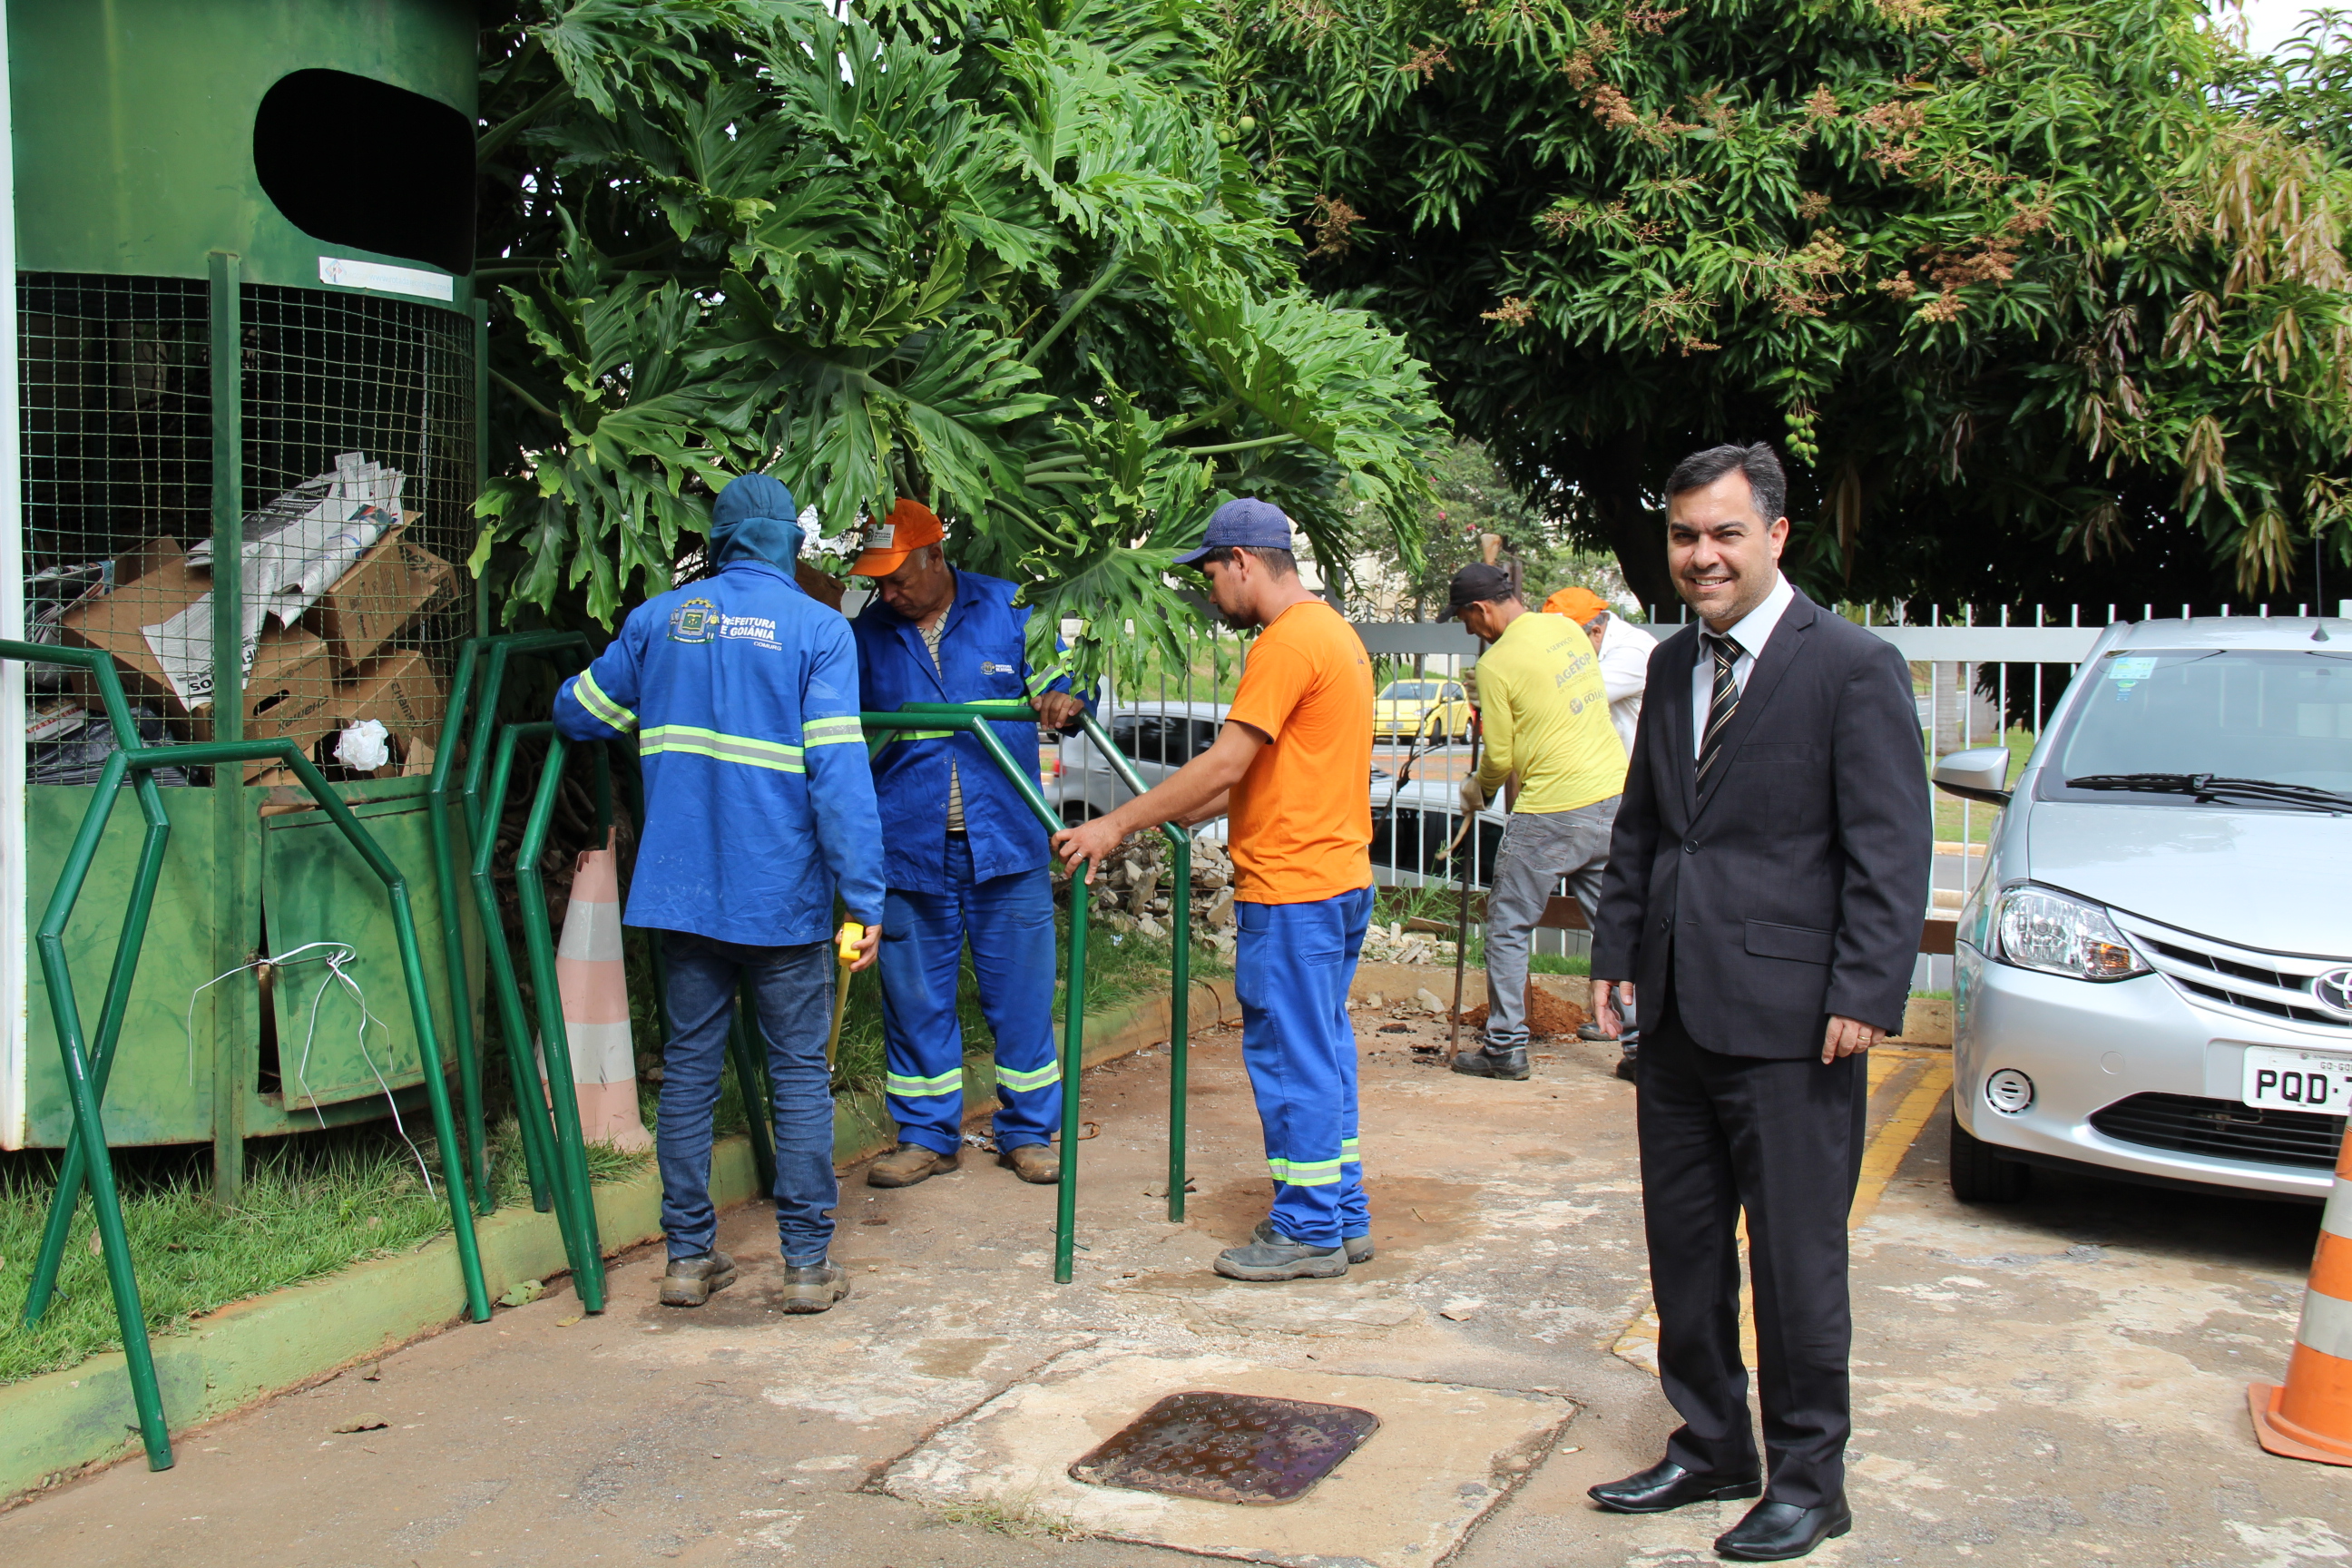
<path id="1" fill-rule="evenodd" d="M 409 1124 L 423 1112 L 409 1114 Z M 414 1251 L 449 1232 L 440 1147 L 419 1138 L 423 1166 L 390 1124 L 256 1140 L 245 1206 L 212 1206 L 207 1150 L 118 1150 L 122 1225 L 139 1267 L 148 1333 L 169 1338 L 228 1302 L 303 1284 L 367 1258 Z M 499 1206 L 529 1204 L 515 1119 L 492 1133 Z M 56 1187 L 54 1152 L 0 1157 L 0 1382 L 16 1382 L 122 1349 L 106 1262 L 89 1251 L 96 1222 L 85 1199 L 66 1241 L 56 1298 L 38 1328 L 24 1326 L 33 1255 Z M 633 1175 L 652 1154 L 588 1145 L 595 1180 Z"/>

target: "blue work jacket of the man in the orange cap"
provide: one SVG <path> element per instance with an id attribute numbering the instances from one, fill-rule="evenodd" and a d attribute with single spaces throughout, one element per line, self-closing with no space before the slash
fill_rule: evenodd
<path id="1" fill-rule="evenodd" d="M 978 571 L 955 574 L 955 604 L 938 639 L 938 668 L 922 630 L 875 595 L 851 623 L 858 637 L 858 679 L 866 708 L 891 712 L 901 703 L 1025 701 L 1037 691 L 1068 691 L 1070 677 L 1030 686 L 1028 607 L 1014 585 Z M 993 724 L 1023 769 L 1037 766 L 1037 722 Z M 967 733 L 901 733 L 875 752 L 875 797 L 882 809 L 884 877 L 910 893 L 950 893 L 948 884 L 948 757 L 964 783 L 964 835 L 971 879 L 1025 872 L 1047 860 L 1044 825 L 1021 790 Z"/>

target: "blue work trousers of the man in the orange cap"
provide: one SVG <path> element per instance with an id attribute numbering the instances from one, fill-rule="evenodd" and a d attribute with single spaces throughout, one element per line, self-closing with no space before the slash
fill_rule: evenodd
<path id="1" fill-rule="evenodd" d="M 1051 1143 L 1061 1121 L 1054 879 L 1037 865 L 974 882 L 971 842 L 950 832 L 948 882 L 953 893 L 891 889 L 882 903 L 882 1086 L 898 1143 L 953 1154 L 964 1138 L 955 983 L 967 940 L 981 1016 L 997 1037 L 997 1150 Z"/>

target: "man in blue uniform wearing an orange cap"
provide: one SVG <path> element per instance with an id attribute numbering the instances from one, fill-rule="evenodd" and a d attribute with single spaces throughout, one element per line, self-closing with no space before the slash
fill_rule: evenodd
<path id="1" fill-rule="evenodd" d="M 858 611 L 863 708 L 1028 701 L 1037 719 L 1000 722 L 1014 757 L 1037 755 L 1037 724 L 1084 708 L 1070 677 L 1030 672 L 1025 604 L 1014 583 L 957 571 L 931 508 L 898 501 L 868 527 L 849 567 L 873 578 Z M 960 731 L 898 731 L 875 752 L 882 811 L 882 1048 L 898 1145 L 866 1171 L 870 1187 L 913 1187 L 955 1171 L 964 1143 L 964 1027 L 955 990 L 964 945 L 997 1044 L 997 1164 L 1054 1182 L 1061 1060 L 1054 1053 L 1054 882 L 1044 827 L 1018 788 Z"/>

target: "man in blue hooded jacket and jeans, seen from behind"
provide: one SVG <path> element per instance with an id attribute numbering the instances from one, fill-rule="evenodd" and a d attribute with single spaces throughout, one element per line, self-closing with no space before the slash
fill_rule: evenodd
<path id="1" fill-rule="evenodd" d="M 849 623 L 793 581 L 793 491 L 729 482 L 710 512 L 713 574 L 647 599 L 555 693 L 569 741 L 635 731 L 644 827 L 623 924 L 661 933 L 670 976 L 663 1058 L 661 1300 L 699 1307 L 734 1281 L 710 1211 L 710 1114 L 736 992 L 767 1041 L 776 1124 L 783 1309 L 826 1312 L 849 1276 L 826 1251 L 833 1178 L 833 898 L 882 936 L 882 832 L 858 733 Z M 844 933 L 847 936 L 847 933 Z"/>

